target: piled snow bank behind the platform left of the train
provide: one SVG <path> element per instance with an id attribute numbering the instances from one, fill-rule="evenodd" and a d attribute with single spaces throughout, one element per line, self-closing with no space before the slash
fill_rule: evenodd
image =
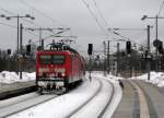
<path id="1" fill-rule="evenodd" d="M 0 83 L 15 83 L 15 82 L 27 82 L 35 80 L 35 72 L 27 73 L 22 72 L 22 79 L 20 79 L 20 75 L 15 72 L 9 72 L 9 71 L 2 71 L 0 72 Z"/>

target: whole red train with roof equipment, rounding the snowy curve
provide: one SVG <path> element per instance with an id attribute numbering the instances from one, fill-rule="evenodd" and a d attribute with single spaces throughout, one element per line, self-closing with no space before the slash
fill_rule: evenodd
<path id="1" fill-rule="evenodd" d="M 84 66 L 84 58 L 63 43 L 51 44 L 49 49 L 37 51 L 35 72 L 38 92 L 68 92 L 82 82 Z"/>

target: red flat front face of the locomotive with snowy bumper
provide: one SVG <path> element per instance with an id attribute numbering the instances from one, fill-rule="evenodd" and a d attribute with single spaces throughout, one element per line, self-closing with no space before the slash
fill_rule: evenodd
<path id="1" fill-rule="evenodd" d="M 35 69 L 36 85 L 39 91 L 52 91 L 66 86 L 69 64 L 67 51 L 38 51 Z"/>

